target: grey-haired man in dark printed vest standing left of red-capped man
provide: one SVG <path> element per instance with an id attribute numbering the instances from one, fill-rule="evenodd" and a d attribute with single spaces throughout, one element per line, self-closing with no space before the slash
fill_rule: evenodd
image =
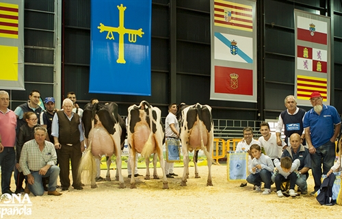
<path id="1" fill-rule="evenodd" d="M 301 144 L 305 145 L 305 135 L 303 128 L 303 117 L 305 115 L 305 110 L 297 107 L 297 101 L 295 100 L 295 96 L 293 95 L 289 95 L 285 98 L 285 107 L 287 107 L 287 110 L 284 110 L 280 113 L 278 118 L 278 125 L 276 126 L 278 146 L 281 146 L 282 127 L 284 127 L 285 143 L 287 145 L 290 144 L 289 138 L 293 133 L 298 133 L 302 141 Z"/>

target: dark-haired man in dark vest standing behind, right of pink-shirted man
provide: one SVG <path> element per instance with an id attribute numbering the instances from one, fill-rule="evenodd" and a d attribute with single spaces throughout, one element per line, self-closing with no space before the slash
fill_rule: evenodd
<path id="1" fill-rule="evenodd" d="M 40 113 L 42 112 L 42 107 L 38 105 L 40 101 L 40 92 L 39 90 L 32 90 L 29 93 L 29 101 L 23 103 L 22 105 L 18 105 L 14 113 L 16 114 L 16 134 L 18 135 L 19 129 L 22 125 L 26 124 L 26 121 L 23 119 L 23 114 L 25 112 L 34 112 L 38 118 L 38 124 L 40 124 Z"/>

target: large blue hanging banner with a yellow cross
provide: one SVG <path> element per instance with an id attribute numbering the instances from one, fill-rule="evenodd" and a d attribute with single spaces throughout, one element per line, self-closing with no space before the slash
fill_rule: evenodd
<path id="1" fill-rule="evenodd" d="M 151 0 L 91 1 L 89 92 L 151 95 Z"/>

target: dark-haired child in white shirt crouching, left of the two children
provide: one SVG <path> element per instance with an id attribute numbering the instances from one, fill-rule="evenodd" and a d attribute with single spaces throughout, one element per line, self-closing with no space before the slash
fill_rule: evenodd
<path id="1" fill-rule="evenodd" d="M 274 170 L 272 159 L 261 153 L 261 147 L 258 144 L 252 144 L 250 152 L 254 158 L 248 165 L 251 174 L 247 177 L 247 181 L 254 185 L 257 192 L 261 190 L 261 183 L 265 183 L 263 194 L 270 194 L 271 177 Z"/>

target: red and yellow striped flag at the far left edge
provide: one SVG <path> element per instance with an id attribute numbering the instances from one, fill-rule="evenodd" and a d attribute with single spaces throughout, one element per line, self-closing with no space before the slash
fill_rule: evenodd
<path id="1" fill-rule="evenodd" d="M 0 37 L 18 38 L 19 6 L 0 3 Z"/>

